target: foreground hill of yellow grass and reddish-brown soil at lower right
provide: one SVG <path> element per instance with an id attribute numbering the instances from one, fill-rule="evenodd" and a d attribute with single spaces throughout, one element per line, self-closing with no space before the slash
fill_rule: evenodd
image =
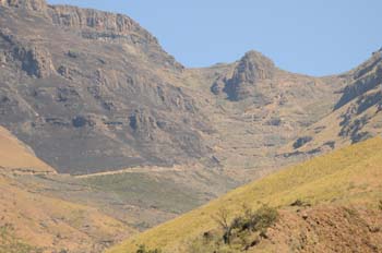
<path id="1" fill-rule="evenodd" d="M 135 252 L 140 244 L 163 252 L 380 252 L 381 145 L 375 137 L 280 170 L 107 252 Z M 249 231 L 230 248 L 219 248 L 219 210 L 227 212 L 229 224 L 243 205 L 262 204 L 277 209 L 275 224 L 262 236 Z M 218 241 L 210 243 L 215 236 Z"/>

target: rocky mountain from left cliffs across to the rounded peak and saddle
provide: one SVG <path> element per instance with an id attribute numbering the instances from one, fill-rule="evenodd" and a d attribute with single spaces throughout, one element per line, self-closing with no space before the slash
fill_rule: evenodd
<path id="1" fill-rule="evenodd" d="M 196 162 L 254 178 L 291 162 L 279 147 L 345 85 L 256 51 L 184 69 L 128 16 L 44 0 L 1 1 L 0 62 L 0 123 L 72 174 Z"/>

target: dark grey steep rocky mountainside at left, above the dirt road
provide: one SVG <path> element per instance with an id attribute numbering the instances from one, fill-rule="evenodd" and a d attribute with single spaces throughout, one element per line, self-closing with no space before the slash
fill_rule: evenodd
<path id="1" fill-rule="evenodd" d="M 181 72 L 131 19 L 45 1 L 1 1 L 0 122 L 60 172 L 168 166 L 207 156 Z"/>

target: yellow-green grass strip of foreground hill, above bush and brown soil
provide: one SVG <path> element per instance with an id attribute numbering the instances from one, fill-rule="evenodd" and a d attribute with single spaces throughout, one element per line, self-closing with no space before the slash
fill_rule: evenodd
<path id="1" fill-rule="evenodd" d="M 182 252 L 190 240 L 216 228 L 212 216 L 222 207 L 235 214 L 243 204 L 256 208 L 265 203 L 283 209 L 296 200 L 313 206 L 377 205 L 382 197 L 381 147 L 382 138 L 375 137 L 282 170 L 138 234 L 108 252 L 135 252 L 136 245 L 143 243 L 165 252 Z"/>

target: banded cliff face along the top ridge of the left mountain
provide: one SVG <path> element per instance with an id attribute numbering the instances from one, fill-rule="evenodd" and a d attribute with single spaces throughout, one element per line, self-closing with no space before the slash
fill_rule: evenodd
<path id="1" fill-rule="evenodd" d="M 157 64 L 176 70 L 183 69 L 162 49 L 152 34 L 126 15 L 76 7 L 51 5 L 48 9 L 48 16 L 55 25 L 77 29 L 84 39 L 129 44 Z"/>

